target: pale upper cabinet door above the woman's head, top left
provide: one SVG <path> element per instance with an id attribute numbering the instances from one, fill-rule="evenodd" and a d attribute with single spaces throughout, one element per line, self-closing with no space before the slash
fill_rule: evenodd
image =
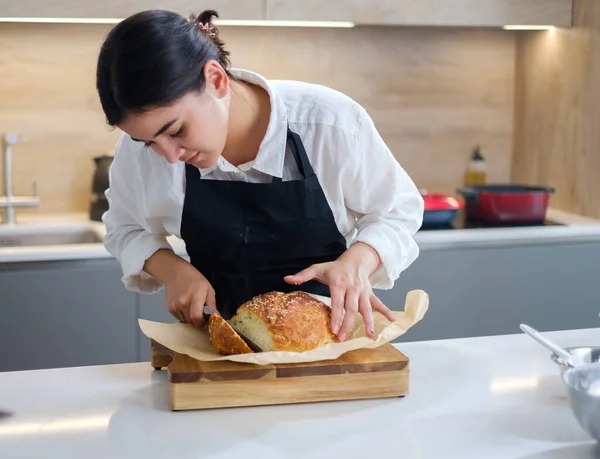
<path id="1" fill-rule="evenodd" d="M 221 19 L 261 19 L 262 0 L 20 0 L 0 2 L 0 17 L 124 18 L 138 11 L 166 9 L 184 16 L 211 9 Z"/>

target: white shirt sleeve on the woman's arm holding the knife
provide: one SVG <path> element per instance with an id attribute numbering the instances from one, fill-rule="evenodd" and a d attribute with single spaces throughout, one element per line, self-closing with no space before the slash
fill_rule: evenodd
<path id="1" fill-rule="evenodd" d="M 163 287 L 143 271 L 144 263 L 159 249 L 172 249 L 166 234 L 152 233 L 142 215 L 136 151 L 124 135 L 119 139 L 106 190 L 109 210 L 102 216 L 106 225 L 104 246 L 121 264 L 122 281 L 129 290 L 154 293 Z"/>

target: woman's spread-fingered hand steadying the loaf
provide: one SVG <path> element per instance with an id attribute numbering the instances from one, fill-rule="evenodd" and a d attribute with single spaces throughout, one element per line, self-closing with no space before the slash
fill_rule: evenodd
<path id="1" fill-rule="evenodd" d="M 392 322 L 396 320 L 392 312 L 375 296 L 369 282 L 369 276 L 380 263 L 379 255 L 372 247 L 357 242 L 336 261 L 309 266 L 297 274 L 286 276 L 285 281 L 300 285 L 315 279 L 329 286 L 331 329 L 340 341 L 348 337 L 359 312 L 365 322 L 367 336 L 373 338 L 373 310 Z"/>

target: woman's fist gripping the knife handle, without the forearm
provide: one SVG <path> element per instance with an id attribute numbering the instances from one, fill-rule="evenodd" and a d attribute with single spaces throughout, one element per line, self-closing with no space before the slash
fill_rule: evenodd
<path id="1" fill-rule="evenodd" d="M 179 266 L 165 283 L 167 309 L 181 322 L 204 325 L 204 305 L 216 312 L 215 290 L 196 268 L 188 264 Z"/>

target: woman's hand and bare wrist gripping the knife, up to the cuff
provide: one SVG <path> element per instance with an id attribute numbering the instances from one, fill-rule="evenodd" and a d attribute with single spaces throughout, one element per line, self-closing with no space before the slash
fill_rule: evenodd
<path id="1" fill-rule="evenodd" d="M 204 325 L 204 306 L 217 312 L 215 290 L 206 277 L 170 250 L 158 250 L 144 264 L 144 271 L 167 289 L 167 309 L 180 322 Z"/>

